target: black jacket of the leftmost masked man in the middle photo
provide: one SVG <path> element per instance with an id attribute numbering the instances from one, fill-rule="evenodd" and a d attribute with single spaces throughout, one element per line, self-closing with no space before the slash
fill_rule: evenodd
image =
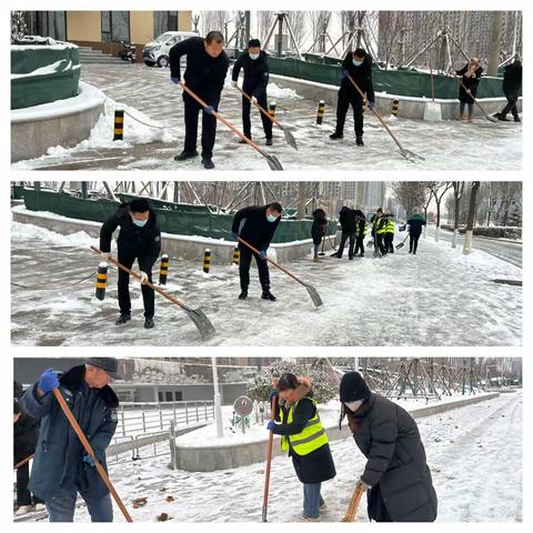
<path id="1" fill-rule="evenodd" d="M 113 231 L 120 225 L 117 244 L 119 258 L 121 254 L 135 258 L 153 259 L 153 262 L 161 252 L 161 231 L 159 229 L 155 212 L 150 209 L 150 217 L 143 228 L 139 228 L 131 220 L 130 204 L 123 203 L 100 229 L 100 250 L 111 251 L 111 238 Z M 141 270 L 142 270 L 142 265 Z"/>

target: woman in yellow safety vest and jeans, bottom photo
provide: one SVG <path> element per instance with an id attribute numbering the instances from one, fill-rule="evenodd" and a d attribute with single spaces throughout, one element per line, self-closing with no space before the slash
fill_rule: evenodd
<path id="1" fill-rule="evenodd" d="M 325 503 L 320 493 L 323 481 L 336 475 L 328 435 L 320 421 L 309 378 L 283 374 L 273 395 L 275 421 L 268 429 L 281 435 L 281 450 L 288 451 L 298 479 L 303 483 L 301 522 L 320 521 Z"/>

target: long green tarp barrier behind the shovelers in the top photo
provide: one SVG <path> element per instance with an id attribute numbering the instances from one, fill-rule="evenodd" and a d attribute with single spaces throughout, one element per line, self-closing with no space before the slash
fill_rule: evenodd
<path id="1" fill-rule="evenodd" d="M 321 58 L 322 59 L 322 58 Z M 326 58 L 323 63 L 300 61 L 293 58 L 269 58 L 272 74 L 286 76 L 301 80 L 325 83 L 328 86 L 341 84 L 342 71 L 338 60 Z M 426 72 L 412 70 L 382 70 L 373 67 L 374 91 L 386 92 L 399 97 L 431 98 L 431 76 Z M 459 95 L 459 80 L 449 76 L 433 76 L 435 98 L 454 100 Z M 503 97 L 501 78 L 482 78 L 477 98 Z"/>

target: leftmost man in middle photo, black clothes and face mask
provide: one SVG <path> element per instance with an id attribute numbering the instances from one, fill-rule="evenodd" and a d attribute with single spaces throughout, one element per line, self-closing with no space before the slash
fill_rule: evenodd
<path id="1" fill-rule="evenodd" d="M 111 255 L 111 238 L 120 225 L 118 260 L 131 269 L 135 259 L 141 274 L 142 301 L 144 304 L 144 328 L 153 328 L 155 298 L 153 289 L 145 282 L 152 282 L 152 266 L 161 252 L 161 231 L 155 212 L 143 198 L 123 203 L 102 225 L 100 230 L 100 251 L 102 259 Z M 131 320 L 130 274 L 119 269 L 119 308 L 120 316 L 115 324 L 124 324 Z"/>

